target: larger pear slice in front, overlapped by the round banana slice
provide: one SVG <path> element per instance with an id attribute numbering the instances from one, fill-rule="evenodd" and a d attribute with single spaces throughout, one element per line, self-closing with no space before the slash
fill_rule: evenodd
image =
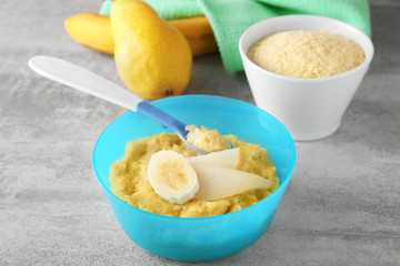
<path id="1" fill-rule="evenodd" d="M 269 180 L 238 170 L 201 164 L 192 164 L 192 167 L 199 180 L 199 191 L 194 200 L 216 201 L 252 188 L 271 186 Z"/>

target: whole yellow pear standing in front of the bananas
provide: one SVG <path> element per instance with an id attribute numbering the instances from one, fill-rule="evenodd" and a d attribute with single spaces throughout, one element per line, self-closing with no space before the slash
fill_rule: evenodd
<path id="1" fill-rule="evenodd" d="M 140 0 L 116 1 L 110 18 L 114 60 L 126 85 L 146 100 L 181 94 L 192 66 L 183 34 Z"/>

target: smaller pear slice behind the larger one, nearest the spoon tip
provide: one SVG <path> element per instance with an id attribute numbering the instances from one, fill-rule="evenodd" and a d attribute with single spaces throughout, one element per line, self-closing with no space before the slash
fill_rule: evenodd
<path id="1" fill-rule="evenodd" d="M 198 155 L 187 158 L 190 164 L 218 166 L 223 168 L 234 168 L 239 163 L 240 147 L 228 149 L 220 152 L 209 153 L 207 155 Z"/>

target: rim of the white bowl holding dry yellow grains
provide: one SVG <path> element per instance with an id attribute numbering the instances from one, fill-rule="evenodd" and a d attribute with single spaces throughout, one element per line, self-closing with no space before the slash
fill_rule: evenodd
<path id="1" fill-rule="evenodd" d="M 251 61 L 248 55 L 247 55 L 247 51 L 243 51 L 243 41 L 246 40 L 247 35 L 249 34 L 249 32 L 251 32 L 252 30 L 254 30 L 257 27 L 259 27 L 262 23 L 266 23 L 266 21 L 286 21 L 288 19 L 312 19 L 312 20 L 324 20 L 331 23 L 339 23 L 343 27 L 350 28 L 351 30 L 358 32 L 360 35 L 362 35 L 362 38 L 366 41 L 366 44 L 368 47 L 370 47 L 371 49 L 371 53 L 370 54 L 366 54 L 366 60 L 358 66 L 356 66 L 354 69 L 351 69 L 349 71 L 336 74 L 336 75 L 330 75 L 330 76 L 323 76 L 323 78 L 312 78 L 312 79 L 304 79 L 304 78 L 296 78 L 296 76 L 288 76 L 288 75 L 282 75 L 282 74 L 278 74 L 278 73 L 273 73 L 271 71 L 268 71 L 261 66 L 259 66 L 258 64 L 256 64 L 253 61 Z M 329 30 L 327 30 L 329 31 Z M 262 38 L 262 37 L 261 37 Z M 260 39 L 261 39 L 260 38 Z M 259 39 L 259 40 L 260 40 Z M 351 38 L 349 38 L 351 39 Z M 351 39 L 352 40 L 352 39 Z M 353 40 L 352 40 L 353 41 Z M 254 44 L 254 43 L 253 43 Z M 287 80 L 287 81 L 296 81 L 296 82 L 326 82 L 326 81 L 330 81 L 330 80 L 338 80 L 338 79 L 343 79 L 348 75 L 352 75 L 356 72 L 361 71 L 364 68 L 368 68 L 368 65 L 371 63 L 372 58 L 373 58 L 373 53 L 374 53 L 374 48 L 373 48 L 373 43 L 371 41 L 371 39 L 361 30 L 359 30 L 358 28 L 341 21 L 341 20 L 337 20 L 337 19 L 332 19 L 329 17 L 322 17 L 322 16 L 314 16 L 314 14 L 287 14 L 287 16 L 280 16 L 280 17 L 274 17 L 274 18 L 269 18 L 266 20 L 261 20 L 252 25 L 250 25 L 240 37 L 239 39 L 239 52 L 241 54 L 242 60 L 246 60 L 247 62 L 249 62 L 251 65 L 253 65 L 257 70 L 263 72 L 267 75 L 270 75 L 272 78 L 277 78 L 277 79 L 281 79 L 281 80 Z M 366 51 L 363 50 L 363 52 L 366 53 Z"/>

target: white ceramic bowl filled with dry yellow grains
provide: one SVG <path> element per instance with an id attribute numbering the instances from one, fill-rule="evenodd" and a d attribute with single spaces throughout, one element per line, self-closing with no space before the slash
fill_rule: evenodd
<path id="1" fill-rule="evenodd" d="M 299 79 L 267 71 L 247 57 L 250 47 L 261 38 L 288 30 L 340 33 L 362 48 L 366 60 L 341 74 Z M 372 42 L 362 31 L 318 16 L 283 16 L 258 22 L 241 35 L 239 51 L 256 104 L 282 122 L 296 141 L 322 139 L 338 130 L 373 57 Z"/>

